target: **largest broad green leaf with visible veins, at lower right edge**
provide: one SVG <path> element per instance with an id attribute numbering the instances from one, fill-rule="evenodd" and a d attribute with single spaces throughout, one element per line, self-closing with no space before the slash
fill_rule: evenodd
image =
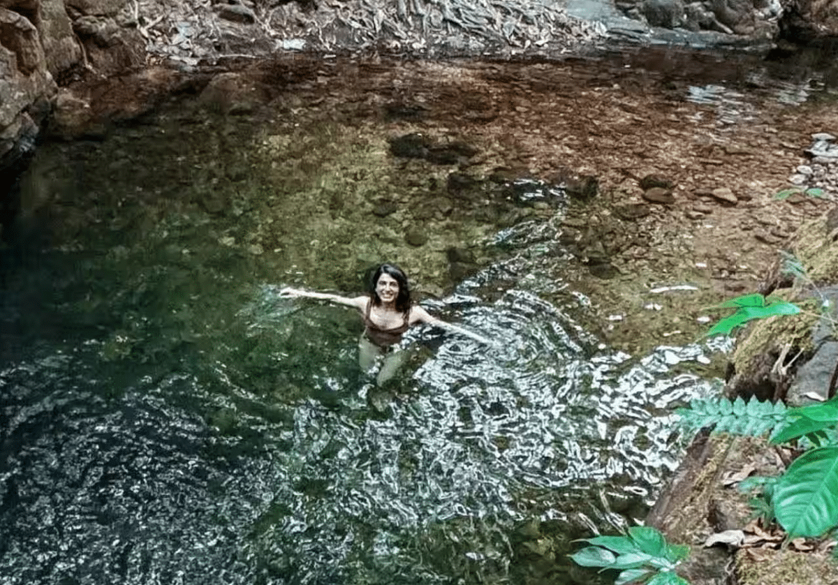
<path id="1" fill-rule="evenodd" d="M 820 536 L 838 525 L 838 446 L 812 449 L 794 459 L 774 484 L 777 521 L 789 538 Z"/>

